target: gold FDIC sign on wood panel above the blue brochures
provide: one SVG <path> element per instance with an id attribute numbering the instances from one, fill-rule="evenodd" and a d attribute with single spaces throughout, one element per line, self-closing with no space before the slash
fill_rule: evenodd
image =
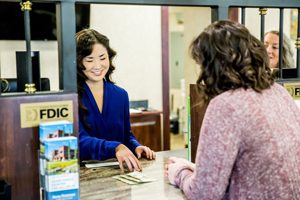
<path id="1" fill-rule="evenodd" d="M 73 122 L 72 101 L 23 103 L 20 105 L 21 128 L 39 126 L 41 122 L 68 120 Z"/>

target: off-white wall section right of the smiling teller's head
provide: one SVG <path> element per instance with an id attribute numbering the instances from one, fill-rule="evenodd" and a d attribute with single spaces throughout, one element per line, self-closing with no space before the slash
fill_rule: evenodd
<path id="1" fill-rule="evenodd" d="M 161 7 L 91 5 L 91 28 L 117 51 L 113 79 L 130 100 L 162 110 Z"/>

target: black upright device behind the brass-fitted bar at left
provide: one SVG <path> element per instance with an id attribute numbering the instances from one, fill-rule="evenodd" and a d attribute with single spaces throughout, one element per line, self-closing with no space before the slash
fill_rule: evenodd
<path id="1" fill-rule="evenodd" d="M 31 52 L 32 71 L 26 65 L 26 52 L 16 51 L 17 58 L 17 87 L 18 92 L 24 92 L 25 84 L 29 83 L 29 73 L 32 75 L 32 82 L 35 84 L 37 91 L 41 91 L 41 75 L 40 75 L 40 53 L 38 51 Z"/>

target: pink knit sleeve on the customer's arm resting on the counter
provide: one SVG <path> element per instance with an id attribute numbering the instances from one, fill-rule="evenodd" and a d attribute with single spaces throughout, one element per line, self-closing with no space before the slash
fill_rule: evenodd
<path id="1" fill-rule="evenodd" d="M 175 184 L 188 199 L 223 199 L 239 151 L 237 115 L 224 98 L 210 102 L 200 131 L 196 168 L 182 166 L 175 174 Z"/>

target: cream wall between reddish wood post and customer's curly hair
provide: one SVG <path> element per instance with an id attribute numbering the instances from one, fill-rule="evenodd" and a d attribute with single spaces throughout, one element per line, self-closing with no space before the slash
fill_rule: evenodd
<path id="1" fill-rule="evenodd" d="M 176 24 L 176 13 L 182 13 L 183 24 Z M 205 16 L 205 17 L 203 17 Z M 180 131 L 187 131 L 187 98 L 189 96 L 189 85 L 195 84 L 200 68 L 192 60 L 189 46 L 192 40 L 211 22 L 210 8 L 195 7 L 171 7 L 170 8 L 170 31 L 182 32 L 183 54 L 184 54 L 184 81 L 181 81 L 180 89 L 170 89 L 170 95 L 174 96 L 174 110 L 180 109 Z M 172 44 L 170 44 L 172 47 Z M 172 67 L 172 66 L 170 66 Z"/>

